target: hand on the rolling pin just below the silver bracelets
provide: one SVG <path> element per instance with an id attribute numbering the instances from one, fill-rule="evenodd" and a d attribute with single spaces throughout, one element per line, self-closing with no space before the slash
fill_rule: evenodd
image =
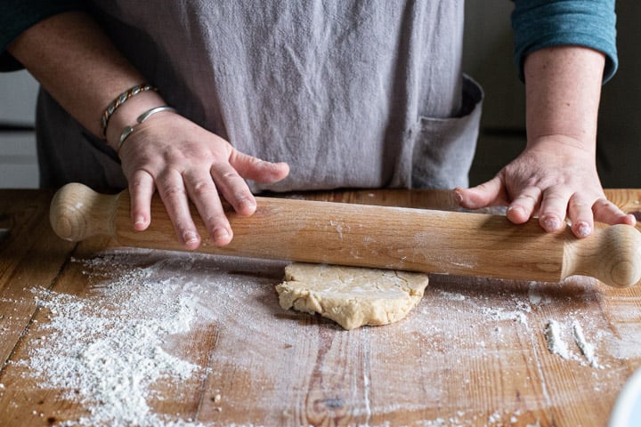
<path id="1" fill-rule="evenodd" d="M 190 250 L 200 245 L 201 237 L 191 218 L 189 200 L 215 245 L 224 246 L 233 233 L 220 195 L 237 214 L 251 215 L 256 211 L 256 198 L 245 179 L 272 183 L 289 173 L 287 164 L 247 156 L 215 133 L 171 112 L 158 113 L 137 125 L 119 155 L 129 182 L 134 230 L 149 227 L 151 197 L 158 189 L 177 238 Z"/>

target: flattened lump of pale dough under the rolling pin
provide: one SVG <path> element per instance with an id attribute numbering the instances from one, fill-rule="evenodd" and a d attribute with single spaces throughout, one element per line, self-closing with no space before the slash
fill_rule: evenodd
<path id="1" fill-rule="evenodd" d="M 387 325 L 402 318 L 423 297 L 425 273 L 293 263 L 276 286 L 280 307 L 319 313 L 345 329 Z"/>

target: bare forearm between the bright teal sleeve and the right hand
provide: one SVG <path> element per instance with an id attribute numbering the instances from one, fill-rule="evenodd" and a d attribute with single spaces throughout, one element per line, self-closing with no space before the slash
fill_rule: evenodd
<path id="1" fill-rule="evenodd" d="M 604 55 L 588 48 L 541 49 L 524 63 L 528 143 L 556 136 L 594 151 Z"/>

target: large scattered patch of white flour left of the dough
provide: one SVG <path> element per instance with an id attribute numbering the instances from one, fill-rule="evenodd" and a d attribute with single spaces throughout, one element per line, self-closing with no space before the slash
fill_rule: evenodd
<path id="1" fill-rule="evenodd" d="M 28 359 L 13 363 L 43 388 L 63 390 L 64 399 L 85 407 L 88 415 L 72 425 L 200 425 L 176 414 L 155 414 L 148 405 L 150 398 L 170 398 L 154 390 L 158 381 L 171 384 L 164 390 L 174 389 L 175 397 L 181 383 L 207 374 L 166 350 L 172 338 L 190 332 L 197 313 L 207 318 L 199 285 L 166 277 L 166 262 L 126 265 L 126 254 L 74 262 L 84 262 L 92 276 L 103 278 L 85 272 L 93 286 L 83 296 L 35 289 L 48 321 L 35 324 L 41 338 Z M 181 262 L 180 269 L 189 270 L 189 260 Z"/>

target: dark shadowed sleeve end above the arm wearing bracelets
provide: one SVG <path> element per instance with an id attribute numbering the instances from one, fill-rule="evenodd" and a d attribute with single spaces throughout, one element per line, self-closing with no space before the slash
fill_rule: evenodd
<path id="1" fill-rule="evenodd" d="M 56 13 L 85 10 L 76 0 L 2 0 L 0 2 L 0 71 L 20 69 L 20 62 L 6 52 L 17 36 Z"/>

